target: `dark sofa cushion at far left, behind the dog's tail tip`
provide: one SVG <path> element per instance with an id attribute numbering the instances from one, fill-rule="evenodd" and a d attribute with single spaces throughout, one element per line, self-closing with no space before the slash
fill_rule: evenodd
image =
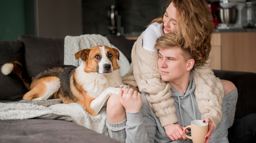
<path id="1" fill-rule="evenodd" d="M 11 61 L 19 61 L 24 66 L 24 46 L 21 41 L 0 42 L 0 66 Z M 0 73 L 0 100 L 21 100 L 28 91 L 22 80 L 14 74 Z"/>

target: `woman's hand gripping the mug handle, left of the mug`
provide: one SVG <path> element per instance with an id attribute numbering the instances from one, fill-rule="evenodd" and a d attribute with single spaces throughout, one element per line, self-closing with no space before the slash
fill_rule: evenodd
<path id="1" fill-rule="evenodd" d="M 185 127 L 178 124 L 169 124 L 164 126 L 165 133 L 172 141 L 176 141 L 178 139 L 183 139 L 186 141 L 186 136 L 183 132 L 184 128 Z M 185 132 L 189 132 L 189 130 L 186 129 Z"/>

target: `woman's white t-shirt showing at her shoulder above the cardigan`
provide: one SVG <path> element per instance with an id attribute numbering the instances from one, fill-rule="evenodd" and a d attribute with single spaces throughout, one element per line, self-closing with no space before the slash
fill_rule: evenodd
<path id="1" fill-rule="evenodd" d="M 162 27 L 163 24 L 155 22 L 146 28 L 142 37 L 144 49 L 157 52 L 157 50 L 154 49 L 154 46 L 157 38 L 164 34 Z"/>

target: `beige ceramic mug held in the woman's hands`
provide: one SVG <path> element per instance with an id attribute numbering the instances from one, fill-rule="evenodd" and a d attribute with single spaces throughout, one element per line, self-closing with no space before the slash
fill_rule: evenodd
<path id="1" fill-rule="evenodd" d="M 186 128 L 190 128 L 191 136 L 185 133 Z M 192 139 L 193 143 L 204 143 L 206 140 L 204 136 L 208 132 L 208 123 L 203 123 L 203 120 L 193 120 L 191 125 L 184 128 L 183 132 L 187 138 Z"/>

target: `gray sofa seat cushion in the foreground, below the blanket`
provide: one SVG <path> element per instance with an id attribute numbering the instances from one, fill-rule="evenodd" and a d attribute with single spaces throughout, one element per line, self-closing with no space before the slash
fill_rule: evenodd
<path id="1" fill-rule="evenodd" d="M 78 124 L 52 119 L 0 120 L 1 143 L 119 143 Z"/>

